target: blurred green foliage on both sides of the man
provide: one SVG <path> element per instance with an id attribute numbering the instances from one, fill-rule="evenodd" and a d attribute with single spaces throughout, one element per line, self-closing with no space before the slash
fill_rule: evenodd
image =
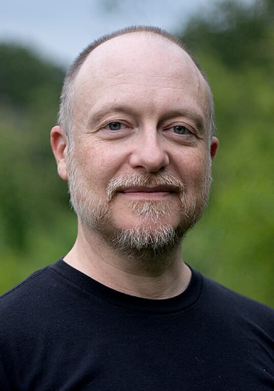
<path id="1" fill-rule="evenodd" d="M 208 74 L 220 141 L 184 260 L 274 306 L 274 2 L 221 2 L 173 33 Z M 49 146 L 65 70 L 0 42 L 0 293 L 65 255 L 77 232 Z"/>

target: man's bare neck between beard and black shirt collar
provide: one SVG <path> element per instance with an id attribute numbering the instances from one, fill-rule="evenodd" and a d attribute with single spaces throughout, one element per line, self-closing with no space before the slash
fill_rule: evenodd
<path id="1" fill-rule="evenodd" d="M 191 271 L 181 258 L 181 246 L 161 259 L 161 267 L 142 267 L 140 256 L 129 259 L 97 234 L 79 224 L 76 243 L 66 263 L 116 291 L 148 299 L 167 299 L 188 286 Z"/>

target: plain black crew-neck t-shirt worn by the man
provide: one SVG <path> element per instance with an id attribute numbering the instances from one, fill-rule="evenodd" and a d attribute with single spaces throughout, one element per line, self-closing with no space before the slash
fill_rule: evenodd
<path id="1" fill-rule="evenodd" d="M 1 391 L 274 389 L 274 310 L 192 270 L 185 292 L 114 291 L 62 259 L 0 299 Z"/>

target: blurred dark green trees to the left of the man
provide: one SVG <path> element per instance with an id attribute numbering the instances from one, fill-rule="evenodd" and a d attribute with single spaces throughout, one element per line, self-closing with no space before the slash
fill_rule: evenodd
<path id="1" fill-rule="evenodd" d="M 49 145 L 63 77 L 63 69 L 32 50 L 0 44 L 1 291 L 43 262 L 31 255 L 39 234 L 55 232 L 60 215 L 69 219 L 66 184 L 57 176 Z M 52 237 L 49 243 L 53 242 Z M 31 262 L 33 269 L 27 266 Z M 15 263 L 9 280 L 4 270 Z"/>

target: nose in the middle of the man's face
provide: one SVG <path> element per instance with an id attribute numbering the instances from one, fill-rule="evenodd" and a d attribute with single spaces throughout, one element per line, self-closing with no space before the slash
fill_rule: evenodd
<path id="1" fill-rule="evenodd" d="M 164 140 L 159 139 L 156 131 L 148 129 L 141 132 L 130 155 L 133 168 L 144 168 L 147 172 L 157 172 L 169 165 Z"/>

